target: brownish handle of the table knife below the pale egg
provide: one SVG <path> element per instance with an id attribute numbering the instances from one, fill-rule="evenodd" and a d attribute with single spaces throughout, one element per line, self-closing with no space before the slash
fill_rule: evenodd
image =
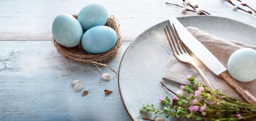
<path id="1" fill-rule="evenodd" d="M 230 76 L 228 70 L 222 72 L 219 77 L 226 81 L 226 83 L 230 87 L 232 87 L 245 102 L 250 103 L 253 106 L 256 106 L 255 96 L 253 96 L 249 91 L 241 87 L 239 83 L 232 76 Z"/>

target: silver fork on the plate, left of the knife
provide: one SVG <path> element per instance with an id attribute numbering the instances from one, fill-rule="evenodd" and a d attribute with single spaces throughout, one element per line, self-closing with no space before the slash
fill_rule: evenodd
<path id="1" fill-rule="evenodd" d="M 171 32 L 172 32 L 173 36 L 171 35 L 169 27 L 171 28 Z M 175 57 L 177 59 L 179 59 L 179 61 L 181 61 L 181 62 L 188 63 L 188 64 L 192 65 L 196 69 L 196 71 L 200 74 L 200 76 L 203 78 L 203 81 L 205 82 L 207 87 L 209 89 L 213 90 L 214 89 L 213 86 L 211 85 L 211 83 L 209 83 L 209 80 L 207 79 L 207 77 L 205 76 L 203 71 L 194 62 L 194 59 L 190 55 L 190 52 L 186 49 L 182 40 L 179 38 L 179 34 L 177 33 L 177 30 L 176 30 L 174 24 L 171 25 L 171 23 L 170 23 L 169 27 L 168 27 L 168 25 L 166 25 L 166 28 L 164 27 L 164 32 L 165 32 L 166 38 L 169 42 L 169 45 L 170 45 Z M 166 29 L 167 29 L 169 36 L 166 32 Z"/>

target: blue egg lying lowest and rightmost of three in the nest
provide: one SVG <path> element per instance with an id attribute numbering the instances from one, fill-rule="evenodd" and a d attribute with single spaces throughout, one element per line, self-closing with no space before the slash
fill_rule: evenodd
<path id="1" fill-rule="evenodd" d="M 87 30 L 82 37 L 83 49 L 92 54 L 105 53 L 113 48 L 117 41 L 115 30 L 107 26 L 96 26 Z"/>

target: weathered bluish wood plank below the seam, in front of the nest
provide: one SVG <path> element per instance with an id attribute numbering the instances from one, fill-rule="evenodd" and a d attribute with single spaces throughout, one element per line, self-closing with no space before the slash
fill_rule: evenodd
<path id="1" fill-rule="evenodd" d="M 119 63 L 130 42 L 122 42 L 120 54 L 109 66 L 118 71 Z M 117 75 L 100 81 L 100 72 L 68 61 L 51 41 L 0 41 L 0 119 L 1 120 L 84 120 L 129 121 L 122 104 Z M 92 69 L 92 70 L 91 70 Z M 85 71 L 86 70 L 86 71 Z M 75 92 L 70 82 L 79 79 L 82 91 Z M 105 95 L 104 89 L 113 93 Z"/>

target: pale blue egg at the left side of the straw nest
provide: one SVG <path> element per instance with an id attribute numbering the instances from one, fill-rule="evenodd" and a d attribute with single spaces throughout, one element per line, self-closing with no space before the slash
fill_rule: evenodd
<path id="1" fill-rule="evenodd" d="M 81 24 L 68 14 L 58 15 L 53 21 L 51 31 L 53 38 L 65 47 L 77 46 L 83 36 Z"/>

